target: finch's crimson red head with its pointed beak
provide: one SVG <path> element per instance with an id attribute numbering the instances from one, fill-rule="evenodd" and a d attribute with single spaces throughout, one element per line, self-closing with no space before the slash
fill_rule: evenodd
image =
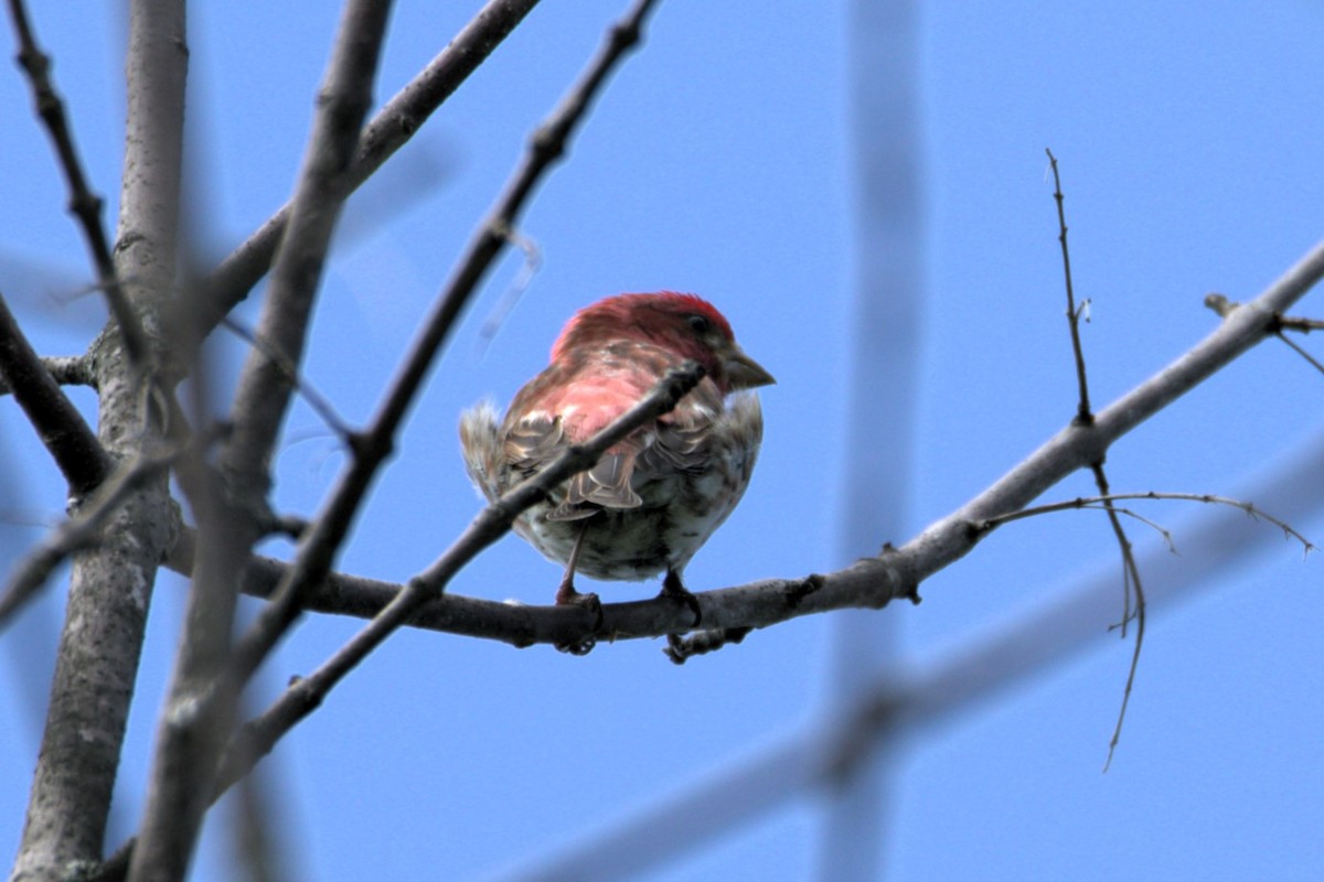
<path id="1" fill-rule="evenodd" d="M 552 346 L 552 361 L 614 340 L 650 342 L 702 364 L 723 390 L 776 382 L 736 345 L 731 323 L 703 298 L 675 291 L 618 294 L 584 307 Z"/>

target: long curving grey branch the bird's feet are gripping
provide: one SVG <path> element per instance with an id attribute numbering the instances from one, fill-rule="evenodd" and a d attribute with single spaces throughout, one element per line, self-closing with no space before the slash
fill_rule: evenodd
<path id="1" fill-rule="evenodd" d="M 1096 417 L 1092 426 L 1067 426 L 993 487 L 960 510 L 935 522 L 904 546 L 865 558 L 850 567 L 793 579 L 764 579 L 698 592 L 703 623 L 712 629 L 763 628 L 802 615 L 842 608 L 880 608 L 895 598 L 912 598 L 933 573 L 969 553 L 986 533 L 981 524 L 1016 512 L 1075 469 L 1098 460 L 1117 438 L 1213 376 L 1238 354 L 1263 340 L 1275 313 L 1300 299 L 1324 276 L 1324 245 L 1275 282 L 1247 308 L 1229 319 L 1190 352 L 1123 395 Z M 181 542 L 169 566 L 191 567 L 188 543 Z M 265 598 L 289 565 L 254 557 L 242 591 Z M 303 596 L 306 610 L 372 618 L 391 603 L 401 586 L 331 574 Z M 584 616 L 565 607 L 512 606 L 455 594 L 436 596 L 412 611 L 406 623 L 430 631 L 499 640 L 515 647 L 565 644 L 581 640 Z M 605 639 L 659 637 L 687 629 L 691 612 L 666 599 L 602 606 Z"/>

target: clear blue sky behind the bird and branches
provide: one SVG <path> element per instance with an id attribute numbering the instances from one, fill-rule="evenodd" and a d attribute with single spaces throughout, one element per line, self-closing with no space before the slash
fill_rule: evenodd
<path id="1" fill-rule="evenodd" d="M 471 12 L 437 5 L 395 13 L 381 99 Z M 536 9 L 399 167 L 351 201 L 306 372 L 347 419 L 372 411 L 527 132 L 624 7 Z M 690 565 L 690 586 L 849 562 L 835 538 L 839 427 L 855 267 L 867 246 L 854 237 L 846 9 L 808 9 L 662 4 L 646 46 L 524 217 L 542 268 L 485 342 L 481 328 L 516 278 L 518 255 L 491 275 L 360 517 L 344 570 L 401 581 L 424 569 L 478 506 L 459 463 L 458 413 L 483 395 L 508 401 L 580 305 L 657 288 L 714 300 L 779 380 L 763 394 L 768 430 L 752 487 Z M 33 16 L 113 218 L 124 26 L 102 11 Z M 225 254 L 289 196 L 334 25 L 330 7 L 192 12 L 191 200 L 205 253 Z M 924 5 L 923 332 L 896 344 L 914 345 L 919 360 L 908 430 L 916 459 L 907 528 L 876 545 L 904 541 L 963 504 L 1074 413 L 1045 147 L 1062 161 L 1076 291 L 1091 300 L 1091 389 L 1103 406 L 1214 328 L 1201 307 L 1206 292 L 1249 299 L 1324 234 L 1321 44 L 1324 8 L 1301 1 Z M 15 71 L 0 77 L 0 286 L 42 352 L 79 352 L 95 309 L 53 309 L 45 295 L 90 272 L 29 103 Z M 1324 313 L 1319 295 L 1298 312 Z M 252 321 L 256 311 L 241 315 Z M 1316 341 L 1303 342 L 1319 357 Z M 238 364 L 234 341 L 214 349 L 220 364 Z M 1113 447 L 1113 488 L 1259 501 L 1259 475 L 1324 444 L 1321 383 L 1284 346 L 1260 346 Z M 87 393 L 73 394 L 91 406 Z M 289 428 L 275 499 L 282 510 L 311 513 L 343 456 L 306 406 Z M 17 463 L 0 496 L 9 512 L 0 543 L 13 559 L 40 536 L 32 521 L 61 516 L 64 488 L 12 402 L 0 402 L 0 446 Z M 1317 488 L 1316 473 L 1298 483 L 1312 481 Z M 1090 492 L 1079 476 L 1046 499 Z M 1324 516 L 1303 510 L 1292 525 L 1324 540 Z M 1156 579 L 1200 566 L 1184 536 L 1215 512 L 1166 502 L 1144 513 L 1173 532 L 1180 551 L 1158 555 L 1166 559 Z M 1141 551 L 1161 547 L 1139 525 L 1132 537 Z M 876 833 L 887 877 L 1324 874 L 1320 557 L 1303 563 L 1288 542 L 1258 549 L 1198 578 L 1185 602 L 1155 610 L 1107 775 L 1099 770 L 1129 645 L 1104 639 L 1121 587 L 1102 517 L 1008 526 L 923 586 L 920 607 L 876 614 L 890 620 L 879 640 L 896 641 L 904 670 L 924 672 L 1099 574 L 1117 581 L 1117 606 L 1094 623 L 1100 639 L 1084 652 L 916 730 L 888 755 L 888 812 Z M 451 588 L 547 603 L 557 578 L 557 567 L 507 538 Z M 610 600 L 655 587 L 600 590 Z M 0 751 L 7 853 L 21 828 L 62 600 L 52 586 L 0 640 L 0 715 L 13 721 Z M 181 602 L 180 581 L 163 575 L 111 848 L 142 809 Z M 347 619 L 307 619 L 263 670 L 253 706 L 355 629 Z M 587 842 L 661 793 L 813 733 L 834 694 L 834 636 L 833 616 L 802 619 L 675 668 L 659 641 L 571 659 L 400 633 L 261 767 L 289 873 L 489 878 Z M 821 809 L 816 796 L 788 801 L 647 878 L 806 878 L 820 862 Z M 228 878 L 228 820 L 225 808 L 212 816 L 196 878 Z"/>

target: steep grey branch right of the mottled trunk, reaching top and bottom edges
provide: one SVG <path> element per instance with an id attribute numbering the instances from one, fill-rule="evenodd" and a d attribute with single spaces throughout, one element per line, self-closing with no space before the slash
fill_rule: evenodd
<path id="1" fill-rule="evenodd" d="M 135 882 L 184 878 L 233 725 L 236 692 L 221 673 L 242 559 L 262 530 L 245 514 L 266 506 L 267 464 L 294 389 L 287 372 L 301 361 L 331 231 L 350 192 L 346 172 L 372 100 L 389 9 L 389 0 L 356 0 L 344 9 L 257 332 L 265 345 L 250 350 L 240 374 L 233 430 L 221 450 L 234 496 L 209 492 L 205 475 L 191 493 L 203 547 L 130 862 Z"/>

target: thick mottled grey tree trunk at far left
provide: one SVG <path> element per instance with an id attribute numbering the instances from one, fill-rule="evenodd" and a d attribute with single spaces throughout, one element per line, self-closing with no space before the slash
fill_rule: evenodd
<path id="1" fill-rule="evenodd" d="M 187 75 L 179 0 L 130 4 L 124 66 L 128 112 L 115 278 L 148 327 L 175 276 Z M 109 327 L 89 356 L 97 372 L 98 438 L 109 455 L 126 459 L 151 448 L 162 413 L 130 350 L 132 327 L 122 324 L 123 333 Z M 147 353 L 147 361 L 158 354 Z M 151 591 L 176 524 L 164 479 L 150 480 L 109 517 L 101 541 L 74 555 L 17 878 L 64 877 L 102 857 Z"/>

